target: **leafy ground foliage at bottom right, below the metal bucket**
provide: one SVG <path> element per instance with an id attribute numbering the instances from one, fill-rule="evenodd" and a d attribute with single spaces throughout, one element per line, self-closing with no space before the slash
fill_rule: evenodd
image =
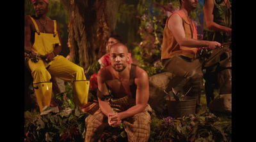
<path id="1" fill-rule="evenodd" d="M 148 141 L 232 141 L 231 118 L 206 112 L 182 118 L 152 117 Z"/>

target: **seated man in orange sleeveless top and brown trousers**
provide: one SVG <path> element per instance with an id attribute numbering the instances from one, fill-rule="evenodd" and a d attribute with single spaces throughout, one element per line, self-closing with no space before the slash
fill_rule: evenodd
<path id="1" fill-rule="evenodd" d="M 164 68 L 173 74 L 165 92 L 168 93 L 175 87 L 187 92 L 191 87 L 187 96 L 197 97 L 196 106 L 199 108 L 203 73 L 202 62 L 195 58 L 196 51 L 200 47 L 214 49 L 221 44 L 197 40 L 195 24 L 189 18 L 191 11 L 197 6 L 197 0 L 181 0 L 180 4 L 180 10 L 168 17 L 164 27 L 161 59 Z"/>

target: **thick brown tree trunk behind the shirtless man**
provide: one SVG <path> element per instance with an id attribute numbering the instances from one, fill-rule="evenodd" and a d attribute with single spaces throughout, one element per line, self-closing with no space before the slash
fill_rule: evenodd
<path id="1" fill-rule="evenodd" d="M 70 60 L 88 69 L 106 53 L 106 43 L 115 31 L 120 1 L 61 0 L 68 13 Z M 111 25 L 111 26 L 109 26 Z"/>

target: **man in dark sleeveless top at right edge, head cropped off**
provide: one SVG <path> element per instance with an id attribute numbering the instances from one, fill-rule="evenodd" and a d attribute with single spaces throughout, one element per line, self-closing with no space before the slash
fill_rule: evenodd
<path id="1" fill-rule="evenodd" d="M 204 1 L 204 40 L 230 43 L 232 36 L 231 0 Z M 214 99 L 214 89 L 231 94 L 231 46 L 212 50 L 203 64 L 207 106 Z"/>

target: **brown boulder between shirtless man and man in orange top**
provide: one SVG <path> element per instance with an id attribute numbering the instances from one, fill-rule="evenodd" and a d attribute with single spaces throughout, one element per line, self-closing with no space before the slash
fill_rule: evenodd
<path id="1" fill-rule="evenodd" d="M 157 75 L 149 76 L 149 100 L 151 108 L 155 110 L 155 113 L 161 114 L 166 110 L 166 94 L 164 89 L 166 89 L 170 79 L 172 78 L 172 73 L 164 72 Z"/>

